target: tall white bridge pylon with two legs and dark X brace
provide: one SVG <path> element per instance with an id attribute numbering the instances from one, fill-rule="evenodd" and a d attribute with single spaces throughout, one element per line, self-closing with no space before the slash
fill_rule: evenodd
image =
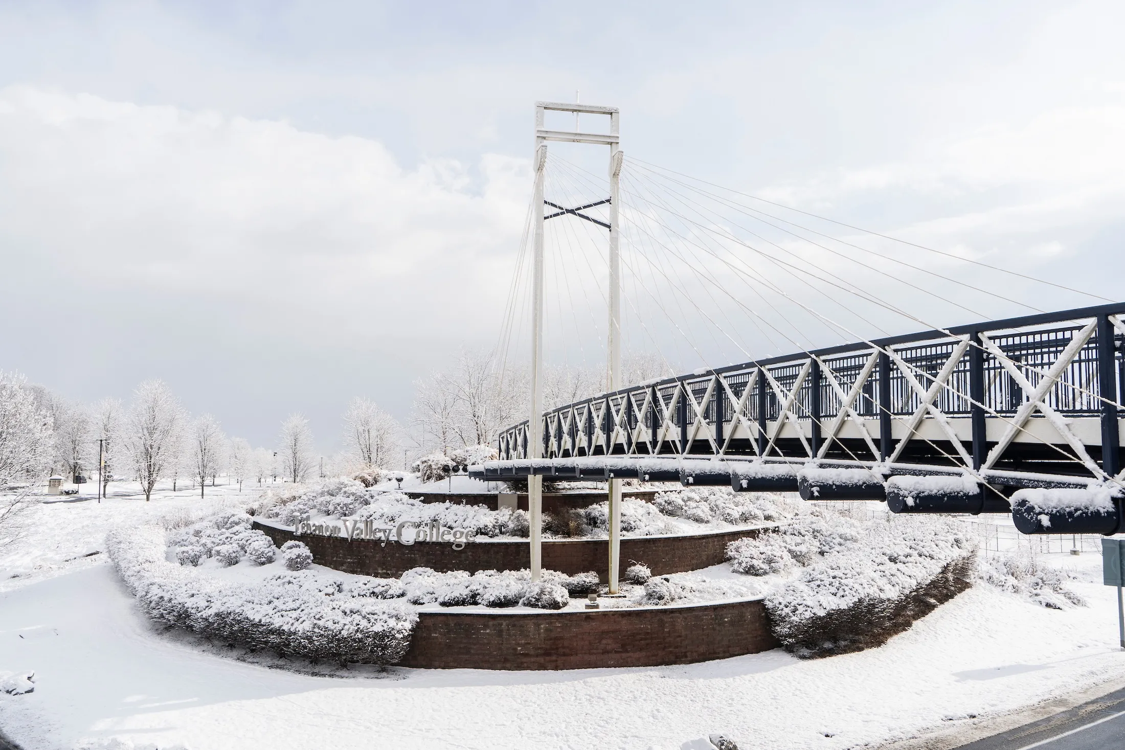
<path id="1" fill-rule="evenodd" d="M 610 118 L 609 134 L 578 133 L 568 130 L 549 130 L 544 127 L 544 114 L 547 111 L 574 112 L 577 115 L 602 115 Z M 577 117 L 575 118 L 577 128 Z M 590 208 L 593 205 L 609 204 L 610 222 L 609 226 L 609 259 L 610 259 L 610 283 L 609 283 L 609 334 L 606 351 L 606 388 L 610 391 L 621 387 L 621 251 L 620 233 L 618 227 L 618 208 L 620 198 L 620 177 L 622 152 L 620 148 L 620 112 L 616 107 L 596 107 L 593 105 L 561 103 L 552 101 L 536 102 L 536 192 L 533 202 L 534 234 L 532 245 L 532 319 L 531 319 L 531 408 L 529 413 L 529 424 L 532 425 L 532 435 L 543 433 L 543 222 L 548 218 L 572 214 L 588 218 L 577 211 Z M 610 196 L 605 201 L 582 206 L 578 208 L 567 208 L 564 206 L 551 206 L 558 209 L 557 213 L 547 216 L 547 202 L 543 198 L 543 172 L 547 165 L 547 142 L 557 141 L 562 143 L 586 143 L 610 147 L 609 178 Z M 593 219 L 591 219 L 593 220 Z M 605 226 L 602 222 L 596 222 Z M 530 440 L 528 444 L 528 458 L 543 458 L 543 444 L 539 440 Z M 542 512 L 543 512 L 543 478 L 541 476 L 528 477 L 528 513 L 531 523 L 531 580 L 538 581 L 542 576 Z M 618 593 L 620 578 L 621 558 L 621 480 L 609 480 L 609 522 L 610 522 L 610 560 L 609 560 L 609 586 L 610 594 Z"/>

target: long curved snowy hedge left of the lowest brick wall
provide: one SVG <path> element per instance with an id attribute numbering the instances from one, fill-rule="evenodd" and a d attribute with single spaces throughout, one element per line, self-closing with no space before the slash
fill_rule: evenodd
<path id="1" fill-rule="evenodd" d="M 252 650 L 392 665 L 417 623 L 408 607 L 378 600 L 378 585 L 348 587 L 312 571 L 242 584 L 169 562 L 156 526 L 110 533 L 107 552 L 150 617 Z"/>

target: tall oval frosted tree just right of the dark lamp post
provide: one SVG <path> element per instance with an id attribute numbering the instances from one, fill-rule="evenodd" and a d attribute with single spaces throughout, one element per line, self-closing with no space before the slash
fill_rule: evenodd
<path id="1" fill-rule="evenodd" d="M 177 431 L 182 418 L 179 401 L 162 380 L 146 380 L 133 392 L 123 440 L 146 501 L 152 499 L 156 481 L 179 458 Z"/>

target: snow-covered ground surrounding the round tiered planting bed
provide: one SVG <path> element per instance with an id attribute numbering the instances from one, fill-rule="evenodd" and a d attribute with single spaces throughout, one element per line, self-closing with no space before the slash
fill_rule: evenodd
<path id="1" fill-rule="evenodd" d="M 0 553 L 0 728 L 39 748 L 740 748 L 878 744 L 1120 679 L 1100 558 L 1044 555 L 1088 607 L 1047 609 L 978 585 L 886 645 L 802 661 L 782 651 L 685 667 L 567 672 L 360 670 L 313 676 L 237 661 L 142 618 L 102 548 L 114 527 L 235 507 L 231 490 L 129 488 L 37 508 Z M 16 575 L 16 578 L 11 578 Z"/>

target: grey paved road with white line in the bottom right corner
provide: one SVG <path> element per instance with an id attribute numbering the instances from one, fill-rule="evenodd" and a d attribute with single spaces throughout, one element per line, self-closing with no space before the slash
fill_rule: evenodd
<path id="1" fill-rule="evenodd" d="M 1125 750 L 1125 689 L 957 750 Z"/>

